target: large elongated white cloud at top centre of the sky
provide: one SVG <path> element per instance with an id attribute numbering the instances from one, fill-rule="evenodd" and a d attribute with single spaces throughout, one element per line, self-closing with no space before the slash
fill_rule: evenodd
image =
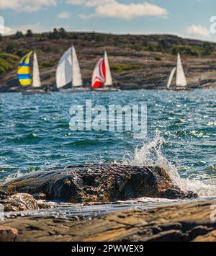
<path id="1" fill-rule="evenodd" d="M 132 19 L 134 17 L 159 16 L 166 17 L 166 9 L 155 4 L 143 2 L 140 4 L 122 4 L 117 0 L 67 0 L 68 4 L 80 4 L 84 6 L 94 6 L 95 14 L 102 17 L 117 17 L 122 19 Z M 81 16 L 82 17 L 82 16 Z M 94 17 L 90 14 L 89 17 Z M 86 16 L 84 16 L 86 18 Z"/>

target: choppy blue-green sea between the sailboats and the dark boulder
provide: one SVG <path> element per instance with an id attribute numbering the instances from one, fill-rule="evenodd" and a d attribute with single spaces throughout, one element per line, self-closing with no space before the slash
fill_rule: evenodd
<path id="1" fill-rule="evenodd" d="M 135 139 L 131 132 L 72 132 L 69 108 L 86 99 L 96 105 L 146 103 L 148 138 Z M 182 186 L 216 196 L 215 111 L 212 89 L 0 94 L 0 180 L 58 165 L 126 161 L 127 154 L 127 162 L 161 163 Z"/>

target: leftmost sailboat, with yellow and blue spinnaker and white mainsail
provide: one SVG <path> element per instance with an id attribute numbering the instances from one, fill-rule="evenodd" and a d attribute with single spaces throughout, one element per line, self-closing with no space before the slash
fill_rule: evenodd
<path id="1" fill-rule="evenodd" d="M 33 55 L 33 68 L 32 68 L 32 77 L 31 77 L 31 57 Z M 19 80 L 19 84 L 22 87 L 28 87 L 27 90 L 22 90 L 22 94 L 35 94 L 42 93 L 44 91 L 40 90 L 41 81 L 40 81 L 40 69 L 37 61 L 37 53 L 31 51 L 27 55 L 25 55 L 22 60 L 19 62 L 17 77 Z"/>

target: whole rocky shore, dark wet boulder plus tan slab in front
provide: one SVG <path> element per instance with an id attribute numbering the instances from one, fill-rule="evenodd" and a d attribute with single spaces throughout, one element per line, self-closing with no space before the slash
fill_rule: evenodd
<path id="1" fill-rule="evenodd" d="M 57 208 L 48 200 L 94 207 L 132 198 L 181 198 L 181 203 L 150 209 L 115 211 L 95 219 L 27 216 L 24 212 Z M 162 167 L 120 164 L 57 167 L 24 175 L 1 185 L 0 204 L 19 217 L 0 221 L 0 241 L 216 241 L 212 205 L 194 201 Z M 53 210 L 52 210 L 53 211 Z"/>

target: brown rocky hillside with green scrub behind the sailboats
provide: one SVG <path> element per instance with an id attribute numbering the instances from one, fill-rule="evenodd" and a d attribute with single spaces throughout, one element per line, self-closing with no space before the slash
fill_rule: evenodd
<path id="1" fill-rule="evenodd" d="M 42 84 L 55 88 L 55 69 L 60 56 L 71 43 L 76 47 L 85 86 L 91 84 L 96 61 L 109 55 L 114 82 L 125 89 L 163 88 L 180 52 L 189 82 L 202 87 L 216 86 L 216 44 L 187 40 L 174 35 L 108 35 L 69 33 L 54 30 L 0 37 L 0 92 L 16 91 L 17 63 L 30 50 L 36 50 Z"/>

